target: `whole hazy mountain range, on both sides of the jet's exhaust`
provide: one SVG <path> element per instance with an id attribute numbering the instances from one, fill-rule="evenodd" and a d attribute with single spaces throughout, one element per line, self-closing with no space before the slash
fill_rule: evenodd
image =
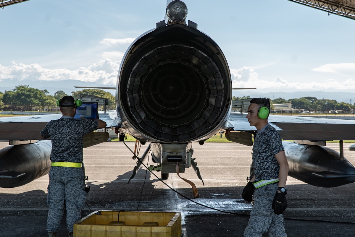
<path id="1" fill-rule="evenodd" d="M 71 95 L 73 91 L 82 90 L 81 88 L 75 88 L 74 86 L 86 86 L 86 87 L 115 87 L 116 85 L 103 85 L 95 82 L 83 82 L 77 80 L 64 80 L 64 81 L 40 81 L 40 80 L 25 80 L 19 81 L 17 79 L 3 79 L 0 81 L 0 91 L 5 92 L 5 90 L 13 90 L 16 86 L 28 85 L 32 88 L 37 88 L 39 90 L 48 90 L 49 94 L 54 95 L 58 90 L 62 90 L 68 95 Z M 115 94 L 114 90 L 105 90 L 111 94 Z M 313 91 L 313 92 L 268 92 L 260 93 L 255 90 L 234 90 L 233 95 L 236 97 L 243 97 L 249 95 L 250 98 L 270 98 L 277 99 L 283 98 L 285 100 L 301 98 L 301 97 L 316 97 L 317 99 L 329 99 L 336 100 L 339 102 L 345 102 L 351 104 L 355 103 L 355 93 L 352 92 L 323 92 L 323 91 Z"/>

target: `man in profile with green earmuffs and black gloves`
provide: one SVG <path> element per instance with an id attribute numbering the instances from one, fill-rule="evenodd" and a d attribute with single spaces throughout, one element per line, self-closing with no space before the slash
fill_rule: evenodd
<path id="1" fill-rule="evenodd" d="M 282 213 L 287 207 L 285 185 L 289 168 L 280 133 L 268 123 L 269 111 L 269 99 L 254 98 L 246 116 L 257 133 L 252 151 L 254 175 L 250 179 L 255 187 L 254 205 L 244 237 L 261 237 L 266 232 L 270 237 L 287 236 Z M 245 189 L 253 190 L 250 183 L 247 186 Z M 250 196 L 251 192 L 247 193 Z"/>

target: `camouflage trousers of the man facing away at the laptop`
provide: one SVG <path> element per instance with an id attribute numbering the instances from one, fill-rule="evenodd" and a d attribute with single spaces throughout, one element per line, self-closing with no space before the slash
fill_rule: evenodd
<path id="1" fill-rule="evenodd" d="M 58 232 L 66 206 L 66 224 L 69 232 L 73 225 L 81 219 L 87 193 L 84 188 L 84 172 L 82 168 L 51 167 L 49 171 L 47 204 L 49 205 L 47 231 Z"/>

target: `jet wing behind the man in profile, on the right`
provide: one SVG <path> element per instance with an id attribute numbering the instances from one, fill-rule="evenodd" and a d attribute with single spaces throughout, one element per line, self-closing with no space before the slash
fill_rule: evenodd
<path id="1" fill-rule="evenodd" d="M 246 113 L 231 112 L 227 126 L 234 131 L 256 131 L 250 126 Z M 354 140 L 355 120 L 270 115 L 269 123 L 284 140 Z"/>

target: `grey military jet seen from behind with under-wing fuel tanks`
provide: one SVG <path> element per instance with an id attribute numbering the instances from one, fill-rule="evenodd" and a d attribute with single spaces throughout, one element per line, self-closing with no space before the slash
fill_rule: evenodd
<path id="1" fill-rule="evenodd" d="M 192 142 L 203 145 L 225 133 L 233 142 L 252 145 L 256 131 L 246 114 L 231 112 L 233 88 L 222 50 L 197 23 L 186 22 L 186 15 L 184 2 L 170 2 L 166 20 L 129 46 L 118 73 L 116 110 L 99 113 L 107 128 L 149 142 L 140 161 L 151 150 L 157 164 L 153 170 L 163 178 L 191 166 L 198 172 Z M 37 140 L 45 124 L 59 117 L 1 118 L 0 140 L 15 145 L 0 150 L 0 187 L 21 186 L 48 173 L 51 144 Z M 270 115 L 269 122 L 284 140 L 296 141 L 284 141 L 290 176 L 320 187 L 355 181 L 355 168 L 342 153 L 342 141 L 355 139 L 355 121 Z M 94 132 L 85 144 L 107 139 L 107 133 Z M 340 154 L 324 147 L 327 140 L 341 141 Z"/>

